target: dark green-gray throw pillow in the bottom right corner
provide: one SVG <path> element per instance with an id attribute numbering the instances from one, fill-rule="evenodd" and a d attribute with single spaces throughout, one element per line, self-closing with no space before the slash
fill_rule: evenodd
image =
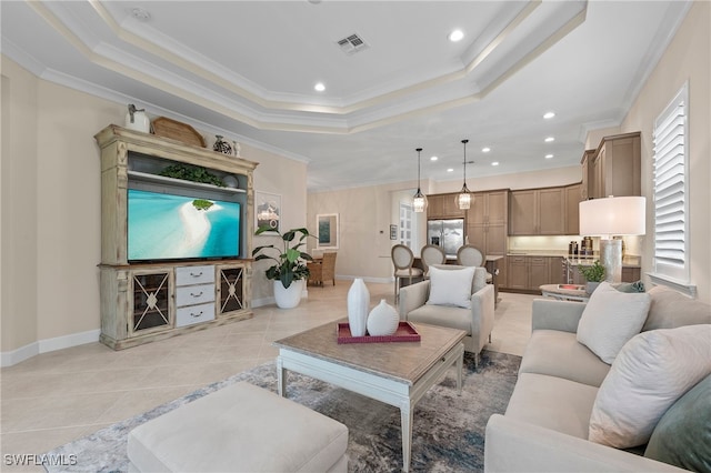
<path id="1" fill-rule="evenodd" d="M 669 407 L 644 456 L 694 472 L 711 472 L 711 375 Z"/>

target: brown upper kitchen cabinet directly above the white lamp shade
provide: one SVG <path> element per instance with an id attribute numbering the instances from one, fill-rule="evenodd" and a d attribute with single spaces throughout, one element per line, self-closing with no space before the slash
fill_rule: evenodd
<path id="1" fill-rule="evenodd" d="M 641 195 L 641 165 L 640 132 L 603 138 L 588 165 L 589 197 Z"/>

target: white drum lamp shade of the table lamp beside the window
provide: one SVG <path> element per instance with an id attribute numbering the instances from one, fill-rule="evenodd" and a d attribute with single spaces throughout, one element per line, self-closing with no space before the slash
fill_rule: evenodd
<path id="1" fill-rule="evenodd" d="M 611 197 L 580 202 L 580 234 L 590 236 L 643 235 L 647 199 Z"/>

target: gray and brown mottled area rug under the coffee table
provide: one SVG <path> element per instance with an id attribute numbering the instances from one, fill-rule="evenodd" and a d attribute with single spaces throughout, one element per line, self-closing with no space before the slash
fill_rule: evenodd
<path id="1" fill-rule="evenodd" d="M 453 369 L 431 388 L 414 407 L 412 471 L 481 472 L 484 460 L 484 427 L 489 416 L 505 411 L 520 356 L 484 351 L 479 368 L 464 354 L 461 395 Z M 77 455 L 79 464 L 49 472 L 126 472 L 128 433 L 166 412 L 238 381 L 277 391 L 277 368 L 267 363 L 213 383 L 144 414 L 102 429 L 48 452 Z M 289 373 L 287 395 L 349 429 L 348 456 L 351 472 L 390 472 L 402 467 L 400 411 L 388 404 L 296 373 Z"/>

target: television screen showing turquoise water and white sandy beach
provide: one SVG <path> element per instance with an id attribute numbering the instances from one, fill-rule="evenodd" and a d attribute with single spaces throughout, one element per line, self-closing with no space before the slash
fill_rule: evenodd
<path id="1" fill-rule="evenodd" d="M 240 204 L 130 189 L 128 259 L 239 255 Z"/>

